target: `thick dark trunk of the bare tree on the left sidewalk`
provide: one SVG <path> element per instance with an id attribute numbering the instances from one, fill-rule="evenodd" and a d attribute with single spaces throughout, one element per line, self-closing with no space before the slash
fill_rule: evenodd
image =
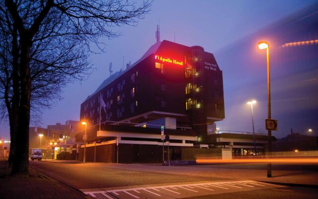
<path id="1" fill-rule="evenodd" d="M 23 35 L 23 36 L 22 36 Z M 11 176 L 27 176 L 29 173 L 29 124 L 30 124 L 30 36 L 26 31 L 21 35 L 20 104 L 18 110 L 18 125 L 16 134 L 16 152 L 13 160 Z"/>

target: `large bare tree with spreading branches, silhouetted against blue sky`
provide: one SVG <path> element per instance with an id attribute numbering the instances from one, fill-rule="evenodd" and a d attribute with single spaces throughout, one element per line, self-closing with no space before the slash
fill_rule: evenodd
<path id="1" fill-rule="evenodd" d="M 28 174 L 30 112 L 49 107 L 62 88 L 91 72 L 91 44 L 113 26 L 135 25 L 150 11 L 126 0 L 2 0 L 0 107 L 10 125 L 11 175 Z"/>

